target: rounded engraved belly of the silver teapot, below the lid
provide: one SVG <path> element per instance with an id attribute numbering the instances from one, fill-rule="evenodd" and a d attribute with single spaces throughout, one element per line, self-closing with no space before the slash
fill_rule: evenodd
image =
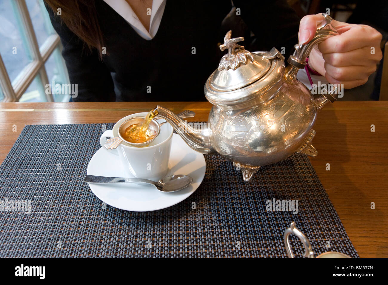
<path id="1" fill-rule="evenodd" d="M 297 94 L 297 98 L 291 94 Z M 213 147 L 225 157 L 239 156 L 240 162 L 266 165 L 266 158 L 258 161 L 258 155 L 274 155 L 284 148 L 301 147 L 300 136 L 308 136 L 316 111 L 315 102 L 306 90 L 303 92 L 300 86 L 290 87 L 285 83 L 272 100 L 262 105 L 233 110 L 215 106 L 209 117 Z"/>

